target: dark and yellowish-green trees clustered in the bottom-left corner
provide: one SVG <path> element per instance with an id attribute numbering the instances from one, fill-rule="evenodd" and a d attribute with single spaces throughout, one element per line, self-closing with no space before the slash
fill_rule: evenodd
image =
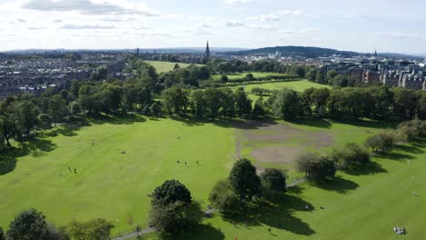
<path id="1" fill-rule="evenodd" d="M 86 222 L 72 220 L 68 225 L 56 227 L 46 216 L 34 208 L 15 216 L 7 232 L 0 227 L 0 240 L 105 240 L 114 227 L 103 218 Z"/>

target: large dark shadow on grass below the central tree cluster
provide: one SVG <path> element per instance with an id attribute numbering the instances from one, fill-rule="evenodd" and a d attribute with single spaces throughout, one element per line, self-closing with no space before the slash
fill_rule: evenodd
<path id="1" fill-rule="evenodd" d="M 284 195 L 273 202 L 249 204 L 240 215 L 222 214 L 222 217 L 229 223 L 235 223 L 236 228 L 251 230 L 251 226 L 267 225 L 265 232 L 269 227 L 275 227 L 296 235 L 313 235 L 315 231 L 307 223 L 292 215 L 293 212 L 309 211 L 306 205 L 310 204 L 297 195 Z"/>

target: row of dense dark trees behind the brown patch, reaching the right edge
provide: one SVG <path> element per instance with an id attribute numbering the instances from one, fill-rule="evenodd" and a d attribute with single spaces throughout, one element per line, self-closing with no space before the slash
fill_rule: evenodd
<path id="1" fill-rule="evenodd" d="M 385 86 L 283 89 L 270 97 L 272 113 L 286 120 L 304 115 L 332 118 L 426 119 L 426 92 Z"/>

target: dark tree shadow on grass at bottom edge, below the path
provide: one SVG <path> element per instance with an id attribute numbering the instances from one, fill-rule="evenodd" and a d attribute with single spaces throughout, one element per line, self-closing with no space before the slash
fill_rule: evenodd
<path id="1" fill-rule="evenodd" d="M 161 234 L 161 239 L 165 240 L 187 240 L 187 239 L 205 239 L 205 240 L 221 240 L 225 239 L 225 235 L 222 231 L 214 228 L 211 225 L 199 225 L 197 229 L 194 229 L 188 233 L 176 233 L 176 234 Z"/>

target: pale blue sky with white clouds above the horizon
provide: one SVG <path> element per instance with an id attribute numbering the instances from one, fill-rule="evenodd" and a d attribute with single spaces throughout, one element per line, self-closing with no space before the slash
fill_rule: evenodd
<path id="1" fill-rule="evenodd" d="M 0 51 L 312 45 L 426 53 L 424 0 L 0 0 Z"/>

